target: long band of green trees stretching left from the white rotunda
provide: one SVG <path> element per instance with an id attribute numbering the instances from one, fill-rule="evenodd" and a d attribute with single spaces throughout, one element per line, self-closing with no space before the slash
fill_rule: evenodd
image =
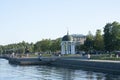
<path id="1" fill-rule="evenodd" d="M 57 52 L 60 51 L 60 43 L 61 38 L 56 40 L 43 39 L 35 44 L 22 41 L 17 44 L 1 45 L 0 54 L 11 54 L 13 52 L 18 54 L 24 54 L 26 52 Z"/>

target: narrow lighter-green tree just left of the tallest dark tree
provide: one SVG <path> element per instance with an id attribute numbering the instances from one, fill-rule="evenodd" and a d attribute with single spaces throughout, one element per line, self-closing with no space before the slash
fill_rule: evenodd
<path id="1" fill-rule="evenodd" d="M 94 38 L 94 49 L 97 51 L 104 50 L 104 41 L 103 36 L 101 34 L 101 30 L 96 31 L 96 35 Z"/>

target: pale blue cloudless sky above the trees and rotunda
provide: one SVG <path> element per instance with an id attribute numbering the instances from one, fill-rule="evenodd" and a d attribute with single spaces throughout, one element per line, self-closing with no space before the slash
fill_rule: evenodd
<path id="1" fill-rule="evenodd" d="M 0 45 L 95 34 L 120 21 L 120 0 L 0 0 Z"/>

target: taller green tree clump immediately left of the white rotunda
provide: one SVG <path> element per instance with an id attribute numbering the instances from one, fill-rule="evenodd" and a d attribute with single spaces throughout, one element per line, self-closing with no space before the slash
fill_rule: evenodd
<path id="1" fill-rule="evenodd" d="M 60 51 L 61 38 L 56 40 L 43 39 L 34 44 L 35 52 L 57 52 Z"/>

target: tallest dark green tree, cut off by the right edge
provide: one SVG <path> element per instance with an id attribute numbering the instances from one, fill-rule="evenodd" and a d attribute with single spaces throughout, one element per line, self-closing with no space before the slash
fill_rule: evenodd
<path id="1" fill-rule="evenodd" d="M 106 51 L 120 50 L 120 24 L 116 21 L 107 23 L 104 28 Z"/>

